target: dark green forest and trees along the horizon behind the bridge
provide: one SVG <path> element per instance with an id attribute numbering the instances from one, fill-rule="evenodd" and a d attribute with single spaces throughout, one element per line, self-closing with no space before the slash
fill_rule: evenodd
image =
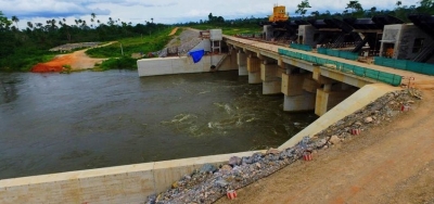
<path id="1" fill-rule="evenodd" d="M 294 18 L 345 18 L 345 17 L 372 17 L 374 15 L 393 15 L 405 22 L 409 22 L 407 16 L 411 13 L 434 14 L 434 1 L 421 0 L 418 5 L 403 5 L 401 1 L 397 1 L 392 10 L 380 10 L 375 7 L 363 9 L 358 1 L 349 1 L 346 9 L 339 13 L 330 13 L 326 11 L 310 11 L 308 0 L 303 0 L 297 4 L 297 14 Z M 270 9 L 271 10 L 271 9 Z M 309 13 L 310 12 L 310 13 Z M 94 13 L 89 15 L 89 20 L 75 20 L 75 24 L 68 25 L 65 18 L 49 20 L 44 23 L 27 22 L 27 27 L 20 28 L 17 23 L 18 16 L 8 18 L 0 11 L 0 71 L 18 71 L 27 72 L 33 65 L 39 62 L 47 62 L 55 54 L 49 49 L 64 43 L 74 42 L 106 42 L 119 39 L 143 39 L 158 41 L 150 43 L 150 40 L 142 43 L 133 44 L 135 50 L 157 51 L 170 40 L 169 38 L 157 38 L 163 33 L 174 26 L 191 26 L 196 28 L 222 28 L 225 29 L 239 28 L 240 33 L 245 30 L 261 30 L 258 26 L 259 22 L 267 21 L 267 17 L 245 17 L 235 20 L 225 20 L 222 16 L 214 16 L 212 13 L 207 20 L 199 22 L 186 22 L 174 25 L 165 25 L 144 21 L 144 24 L 132 25 L 131 23 L 122 22 L 120 20 L 108 18 L 103 23 L 98 20 Z M 140 40 L 136 40 L 139 41 Z M 99 56 L 119 58 L 118 49 L 113 49 L 113 52 L 104 53 Z M 115 51 L 116 50 L 116 51 Z M 129 58 L 129 56 L 125 56 Z M 133 62 L 133 61 L 132 61 Z"/>

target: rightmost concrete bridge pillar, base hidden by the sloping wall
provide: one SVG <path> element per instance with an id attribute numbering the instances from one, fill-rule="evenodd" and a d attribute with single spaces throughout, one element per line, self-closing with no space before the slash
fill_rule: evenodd
<path id="1" fill-rule="evenodd" d="M 354 90 L 327 91 L 326 86 L 324 90 L 317 89 L 315 114 L 318 116 L 326 114 L 329 110 L 333 109 L 354 92 Z"/>

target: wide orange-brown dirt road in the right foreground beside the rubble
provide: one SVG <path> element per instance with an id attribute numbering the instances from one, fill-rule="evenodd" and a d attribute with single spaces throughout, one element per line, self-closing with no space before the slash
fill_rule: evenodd
<path id="1" fill-rule="evenodd" d="M 434 91 L 394 122 L 217 203 L 434 203 Z"/>

